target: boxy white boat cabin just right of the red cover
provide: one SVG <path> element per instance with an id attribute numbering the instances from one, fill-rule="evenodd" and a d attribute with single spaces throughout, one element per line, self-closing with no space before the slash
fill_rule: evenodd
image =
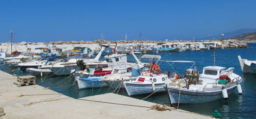
<path id="1" fill-rule="evenodd" d="M 105 60 L 107 61 L 109 69 L 118 69 L 118 73 L 127 72 L 128 66 L 126 54 L 113 54 L 110 56 L 105 56 Z"/>

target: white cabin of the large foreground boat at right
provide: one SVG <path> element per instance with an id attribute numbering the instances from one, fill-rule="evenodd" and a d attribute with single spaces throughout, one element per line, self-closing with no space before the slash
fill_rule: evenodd
<path id="1" fill-rule="evenodd" d="M 225 67 L 206 66 L 199 78 L 203 83 L 217 83 L 221 75 L 225 75 Z"/>

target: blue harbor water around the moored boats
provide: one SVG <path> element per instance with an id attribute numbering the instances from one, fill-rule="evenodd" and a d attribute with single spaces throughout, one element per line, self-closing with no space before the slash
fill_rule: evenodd
<path id="1" fill-rule="evenodd" d="M 248 60 L 256 60 L 256 43 L 248 43 L 248 46 L 252 48 L 238 48 L 238 49 L 218 49 L 215 51 L 215 65 L 223 66 L 226 68 L 234 67 L 234 73 L 242 76 L 243 81 L 241 82 L 241 86 L 243 89 L 243 94 L 239 95 L 237 90 L 234 90 L 232 94 L 229 95 L 228 100 L 219 99 L 217 101 L 212 101 L 203 104 L 183 104 L 179 106 L 179 109 L 197 112 L 200 114 L 212 115 L 212 112 L 218 110 L 220 112 L 236 112 L 236 113 L 220 113 L 223 117 L 222 119 L 251 119 L 255 118 L 256 112 L 246 112 L 239 113 L 243 111 L 256 111 L 256 104 L 254 101 L 256 100 L 256 74 L 250 73 L 242 73 L 240 63 L 238 61 L 238 55 L 241 58 L 245 58 Z M 213 51 L 184 51 L 179 53 L 158 53 L 155 55 L 160 55 L 161 60 L 165 61 L 195 61 L 196 68 L 198 71 L 202 71 L 204 66 L 213 66 Z M 138 55 L 139 57 L 139 55 Z M 101 57 L 101 60 L 104 57 Z M 128 55 L 129 61 L 134 61 L 133 56 Z M 159 62 L 161 63 L 161 62 Z M 184 71 L 192 66 L 193 63 L 174 63 L 172 66 L 175 70 L 177 70 L 180 74 L 184 74 Z M 15 74 L 17 76 L 26 76 L 32 75 L 30 73 L 22 72 L 18 70 L 18 68 L 6 68 L 5 65 L 0 64 L 0 70 L 6 71 L 8 73 L 12 73 L 12 70 L 15 70 Z M 174 71 L 174 69 L 168 64 L 161 63 L 160 65 L 161 71 Z M 194 68 L 194 67 L 193 67 Z M 200 72 L 202 73 L 202 72 Z M 109 87 L 102 88 L 92 88 L 92 89 L 83 89 L 79 90 L 78 86 L 75 85 L 74 77 L 70 76 L 51 76 L 49 78 L 45 78 L 41 76 L 37 76 L 37 84 L 44 87 L 49 87 L 49 89 L 59 92 L 61 94 L 71 96 L 73 98 L 81 98 L 85 96 L 93 96 L 97 94 L 105 94 L 113 92 L 113 89 Z M 73 85 L 74 84 L 74 85 Z M 120 89 L 115 93 L 120 95 L 128 96 L 125 89 Z M 133 96 L 136 99 L 143 99 L 149 94 Z M 167 104 L 170 105 L 169 97 L 166 92 L 156 93 L 152 96 L 149 96 L 145 99 L 145 101 L 154 102 L 157 104 Z"/>

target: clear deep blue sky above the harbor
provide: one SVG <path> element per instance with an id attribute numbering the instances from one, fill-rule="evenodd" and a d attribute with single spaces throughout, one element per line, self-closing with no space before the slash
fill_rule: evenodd
<path id="1" fill-rule="evenodd" d="M 163 41 L 256 28 L 255 0 L 1 0 L 0 42 Z"/>

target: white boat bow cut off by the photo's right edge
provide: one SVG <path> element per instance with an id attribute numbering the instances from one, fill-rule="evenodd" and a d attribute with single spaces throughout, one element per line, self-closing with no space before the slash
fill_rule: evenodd
<path id="1" fill-rule="evenodd" d="M 238 60 L 243 73 L 255 73 L 256 74 L 256 61 L 248 61 L 238 56 Z"/>

